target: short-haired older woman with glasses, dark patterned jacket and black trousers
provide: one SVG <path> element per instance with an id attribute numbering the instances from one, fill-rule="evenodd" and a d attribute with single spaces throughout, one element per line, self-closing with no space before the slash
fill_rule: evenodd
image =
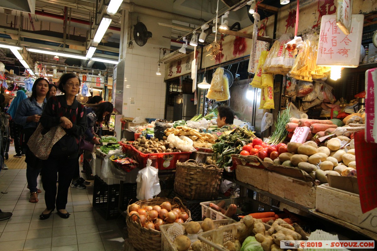
<path id="1" fill-rule="evenodd" d="M 49 158 L 43 161 L 46 209 L 39 216 L 41 220 L 48 219 L 55 206 L 61 218 L 70 216 L 66 210 L 68 189 L 77 161 L 78 143 L 87 127 L 85 108 L 76 100 L 80 85 L 80 79 L 74 73 L 63 74 L 58 88 L 64 95 L 50 97 L 41 116 L 44 129 L 60 125 L 66 131 L 66 135 L 52 147 Z M 64 149 L 66 153 L 62 152 Z"/>

